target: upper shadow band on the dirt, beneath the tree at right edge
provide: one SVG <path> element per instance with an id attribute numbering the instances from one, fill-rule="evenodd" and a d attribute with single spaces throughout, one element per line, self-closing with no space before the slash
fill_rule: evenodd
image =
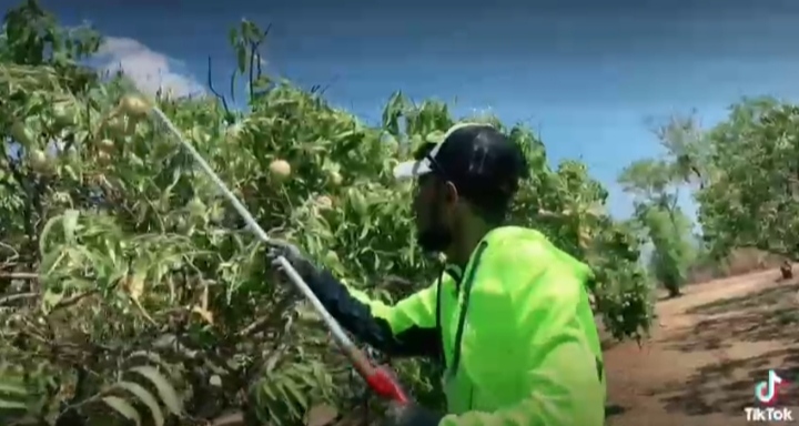
<path id="1" fill-rule="evenodd" d="M 796 342 L 799 334 L 793 285 L 715 301 L 687 313 L 707 317 L 664 339 L 667 348 L 695 352 L 724 349 L 740 342 Z"/>

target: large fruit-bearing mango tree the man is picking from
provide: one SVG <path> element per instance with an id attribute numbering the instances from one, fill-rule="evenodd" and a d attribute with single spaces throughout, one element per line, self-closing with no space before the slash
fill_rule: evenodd
<path id="1" fill-rule="evenodd" d="M 262 74 L 264 32 L 249 21 L 231 38 L 249 89 L 240 111 L 222 97 L 131 95 L 124 75 L 81 65 L 97 33 L 57 26 L 34 1 L 9 11 L 3 30 L 2 423 L 192 425 L 233 413 L 294 425 L 322 406 L 332 418 L 374 415 L 352 409 L 363 389 L 313 312 L 267 273 L 262 244 L 145 111 L 159 105 L 270 235 L 395 300 L 429 285 L 439 260 L 414 244 L 411 187 L 392 169 L 457 121 L 446 105 L 397 93 L 367 125 Z M 640 338 L 649 288 L 637 241 L 604 211 L 607 192 L 581 163 L 550 169 L 529 130 L 504 129 L 533 174 L 514 223 L 590 263 L 607 327 Z M 442 404 L 434 365 L 395 366 L 425 404 Z"/>

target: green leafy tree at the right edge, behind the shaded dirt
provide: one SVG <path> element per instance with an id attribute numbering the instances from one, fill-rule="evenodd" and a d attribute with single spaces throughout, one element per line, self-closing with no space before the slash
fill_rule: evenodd
<path id="1" fill-rule="evenodd" d="M 718 255 L 755 247 L 799 253 L 799 106 L 772 99 L 734 105 L 708 133 L 714 174 L 699 191 L 699 221 Z"/>

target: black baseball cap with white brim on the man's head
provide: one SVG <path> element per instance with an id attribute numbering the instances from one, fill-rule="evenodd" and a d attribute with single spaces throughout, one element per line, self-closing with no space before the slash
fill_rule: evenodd
<path id="1" fill-rule="evenodd" d="M 435 174 L 473 201 L 509 199 L 529 175 L 522 148 L 489 124 L 459 123 L 394 168 L 396 179 Z"/>

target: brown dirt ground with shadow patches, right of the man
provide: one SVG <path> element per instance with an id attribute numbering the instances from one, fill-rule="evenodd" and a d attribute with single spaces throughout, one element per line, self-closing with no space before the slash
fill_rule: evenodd
<path id="1" fill-rule="evenodd" d="M 769 368 L 790 382 L 777 405 L 799 414 L 799 287 L 778 276 L 696 284 L 659 302 L 649 341 L 605 352 L 608 425 L 742 425 Z"/>

